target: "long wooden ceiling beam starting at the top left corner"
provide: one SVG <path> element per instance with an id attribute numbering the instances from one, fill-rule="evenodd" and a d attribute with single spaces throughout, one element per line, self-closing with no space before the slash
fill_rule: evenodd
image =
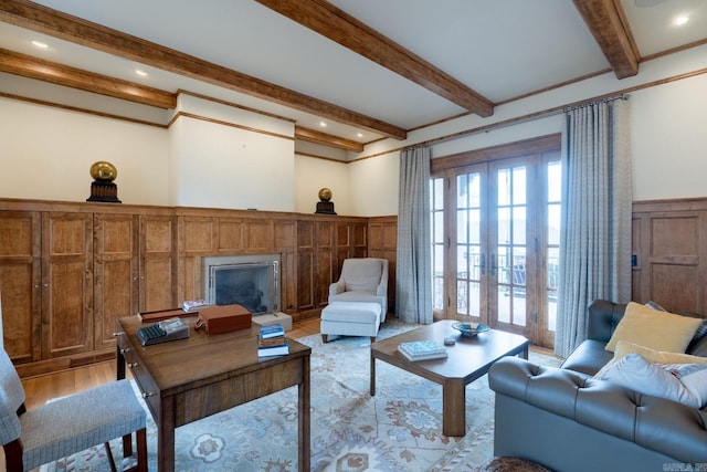
<path id="1" fill-rule="evenodd" d="M 390 138 L 408 136 L 399 126 L 27 0 L 0 0 L 0 21 Z"/>

